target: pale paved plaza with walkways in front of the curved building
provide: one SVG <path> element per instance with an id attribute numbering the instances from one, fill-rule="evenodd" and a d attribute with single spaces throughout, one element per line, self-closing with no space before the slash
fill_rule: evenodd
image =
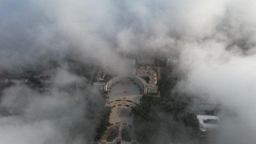
<path id="1" fill-rule="evenodd" d="M 133 81 L 130 83 L 116 82 L 110 86 L 105 106 L 113 107 L 115 105 L 115 107 L 112 108 L 112 113 L 110 113 L 109 117 L 109 122 L 113 123 L 114 125 L 110 126 L 106 130 L 103 138 L 101 139 L 101 144 L 107 143 L 106 140 L 108 135 L 116 128 L 116 126 L 119 126 L 118 138 L 122 137 L 122 129 L 125 128 L 128 129 L 129 135 L 131 135 L 132 140 L 130 143 L 137 143 L 137 138 L 133 131 L 133 117 L 129 115 L 126 117 L 119 116 L 118 108 L 127 108 L 129 114 L 131 112 L 131 107 L 135 107 L 135 105 L 140 104 L 140 98 L 142 95 L 143 90 L 137 83 Z"/>

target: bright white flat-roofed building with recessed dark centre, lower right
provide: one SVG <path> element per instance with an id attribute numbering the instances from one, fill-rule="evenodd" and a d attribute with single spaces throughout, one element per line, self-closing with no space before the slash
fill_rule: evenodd
<path id="1" fill-rule="evenodd" d="M 203 132 L 212 131 L 220 127 L 218 116 L 196 115 L 198 119 L 199 129 Z"/>

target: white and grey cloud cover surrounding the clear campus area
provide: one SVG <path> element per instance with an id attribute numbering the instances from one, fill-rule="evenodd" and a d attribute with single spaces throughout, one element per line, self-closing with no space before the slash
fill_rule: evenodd
<path id="1" fill-rule="evenodd" d="M 88 142 L 97 118 L 85 117 L 86 106 L 92 101 L 96 110 L 101 107 L 99 95 L 86 84 L 88 80 L 69 73 L 64 60 L 118 69 L 122 58 L 141 55 L 179 58 L 183 76 L 177 91 L 207 97 L 234 111 L 235 116 L 223 119 L 222 131 L 213 140 L 216 144 L 255 143 L 256 1 L 0 3 L 0 73 L 28 55 L 42 67 L 50 60 L 61 65 L 52 68 L 57 77 L 49 94 L 26 87 L 22 92 L 15 92 L 19 91 L 15 87 L 4 91 L 2 104 L 6 106 L 12 105 L 16 93 L 33 105 L 33 110 L 30 107 L 24 115 L 13 116 L 8 125 L 1 126 L 4 143 Z M 73 83 L 81 87 L 63 91 Z M 86 136 L 71 137 L 70 129 L 81 123 Z"/>

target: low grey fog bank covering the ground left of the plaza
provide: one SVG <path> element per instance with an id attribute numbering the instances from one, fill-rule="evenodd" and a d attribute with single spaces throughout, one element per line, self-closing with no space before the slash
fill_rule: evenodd
<path id="1" fill-rule="evenodd" d="M 8 116 L 1 125 L 3 144 L 83 144 L 94 139 L 104 107 L 100 95 L 84 78 L 63 69 L 53 81 L 48 92 L 25 85 L 4 90 L 1 107 L 18 107 L 25 113 Z"/>

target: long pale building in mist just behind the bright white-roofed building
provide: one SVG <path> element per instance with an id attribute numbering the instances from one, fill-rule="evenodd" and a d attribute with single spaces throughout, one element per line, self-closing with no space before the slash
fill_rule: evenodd
<path id="1" fill-rule="evenodd" d="M 193 108 L 195 110 L 220 110 L 222 107 L 220 104 L 201 101 L 201 99 L 195 98 L 193 101 Z"/>

